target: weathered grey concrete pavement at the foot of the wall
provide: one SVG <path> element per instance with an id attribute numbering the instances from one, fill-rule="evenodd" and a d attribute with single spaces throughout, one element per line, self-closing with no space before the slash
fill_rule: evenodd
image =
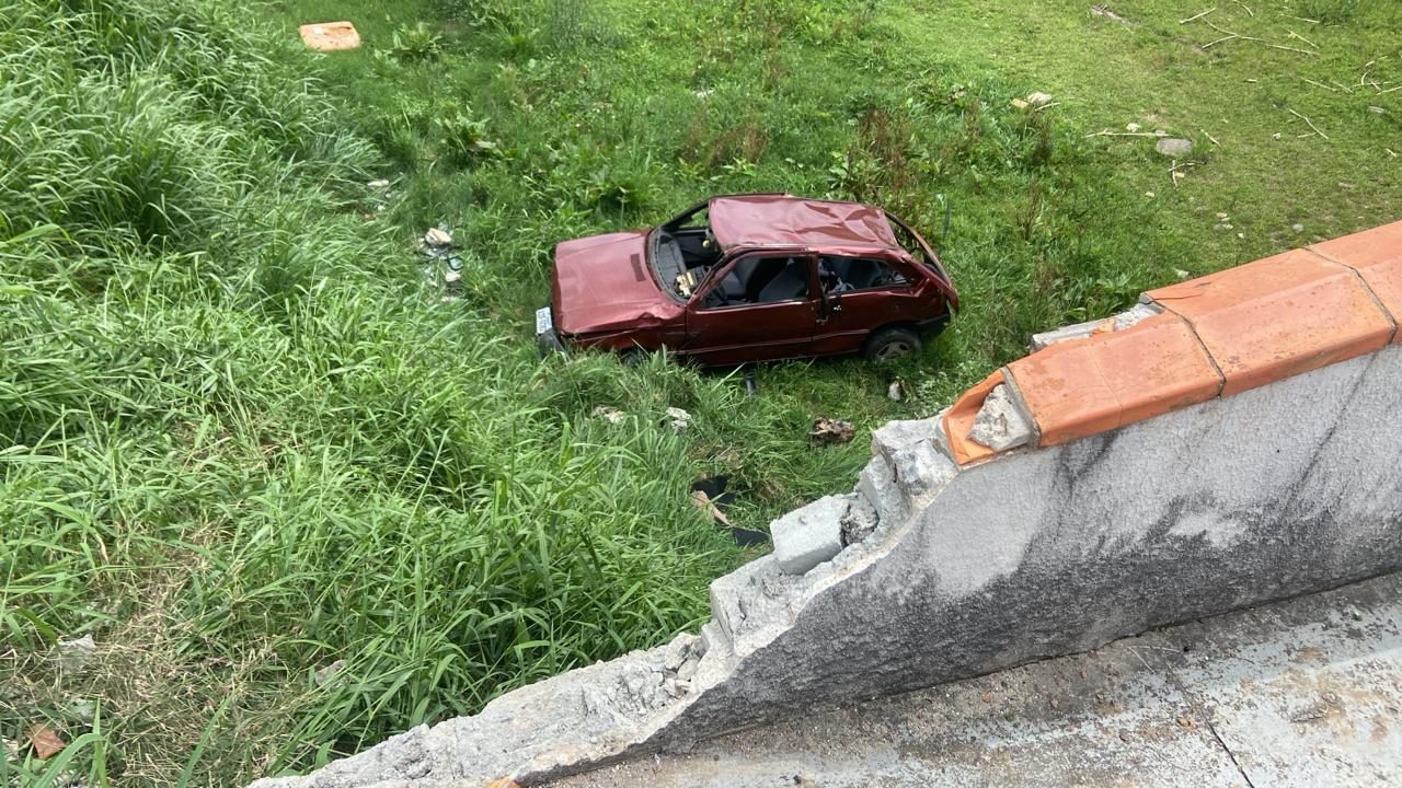
<path id="1" fill-rule="evenodd" d="M 1402 575 L 552 785 L 1402 785 Z"/>

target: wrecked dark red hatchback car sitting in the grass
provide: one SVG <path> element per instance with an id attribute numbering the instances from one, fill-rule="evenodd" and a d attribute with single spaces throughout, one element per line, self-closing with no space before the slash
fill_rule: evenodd
<path id="1" fill-rule="evenodd" d="M 543 352 L 666 348 L 707 366 L 920 351 L 959 297 L 935 252 L 878 208 L 718 196 L 653 229 L 555 248 Z"/>

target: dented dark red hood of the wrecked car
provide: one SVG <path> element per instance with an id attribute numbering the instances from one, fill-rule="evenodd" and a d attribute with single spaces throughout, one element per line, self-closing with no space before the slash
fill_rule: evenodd
<path id="1" fill-rule="evenodd" d="M 648 233 L 611 233 L 555 247 L 551 307 L 564 334 L 646 328 L 683 306 L 658 289 L 646 261 Z"/>

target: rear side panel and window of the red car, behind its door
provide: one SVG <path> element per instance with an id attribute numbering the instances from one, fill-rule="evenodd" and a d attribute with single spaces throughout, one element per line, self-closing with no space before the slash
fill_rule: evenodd
<path id="1" fill-rule="evenodd" d="M 815 356 L 854 353 L 872 331 L 924 317 L 916 292 L 920 279 L 897 261 L 823 255 L 819 275 L 827 308 L 813 335 Z"/>

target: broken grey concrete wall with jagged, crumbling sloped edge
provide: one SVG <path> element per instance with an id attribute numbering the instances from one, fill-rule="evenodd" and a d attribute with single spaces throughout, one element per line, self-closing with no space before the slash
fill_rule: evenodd
<path id="1" fill-rule="evenodd" d="M 1148 345 L 1179 348 L 1193 369 L 1227 377 L 1211 355 L 1225 353 L 1209 353 L 1186 320 L 1150 310 L 1123 322 L 1066 345 L 1113 351 L 1116 332 L 1171 331 Z M 1391 327 L 1368 327 L 1367 342 L 1396 338 Z M 1084 348 L 1046 352 L 1085 358 Z M 1280 366 L 1281 355 L 1258 348 L 1276 372 L 1256 387 L 1223 398 L 1220 383 L 1197 386 L 1192 398 L 1137 411 L 1122 398 L 1131 380 L 1096 379 L 1088 397 L 1119 401 L 1110 422 L 1085 419 L 1074 398 L 1025 390 L 1036 376 L 990 377 L 958 419 L 876 430 L 855 491 L 775 522 L 777 554 L 712 585 L 714 620 L 700 638 L 558 676 L 475 716 L 261 785 L 533 784 L 1402 568 L 1402 345 L 1330 353 Z M 1101 370 L 1101 360 L 1071 369 Z M 1172 374 L 1148 380 L 1179 386 Z M 970 460 L 951 444 L 967 440 L 1000 384 L 998 429 L 1035 435 Z M 1138 421 L 1123 423 L 1130 416 Z M 1088 423 L 1116 426 L 1070 437 Z"/>

